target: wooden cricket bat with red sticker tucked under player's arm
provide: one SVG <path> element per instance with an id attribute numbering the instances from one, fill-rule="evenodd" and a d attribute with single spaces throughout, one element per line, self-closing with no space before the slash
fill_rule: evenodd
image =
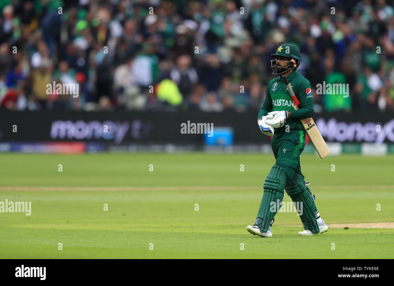
<path id="1" fill-rule="evenodd" d="M 286 75 L 282 75 L 282 80 L 284 84 L 286 84 L 286 87 L 288 91 L 290 92 L 290 95 L 294 101 L 294 110 L 298 110 L 301 108 L 301 105 L 299 103 L 299 100 L 297 99 L 296 95 L 294 94 L 289 81 L 287 80 Z M 322 134 L 320 134 L 318 128 L 316 127 L 315 122 L 313 121 L 312 118 L 305 118 L 301 119 L 301 124 L 305 128 L 305 131 L 308 134 L 308 137 L 310 141 L 313 144 L 313 147 L 315 148 L 316 152 L 318 152 L 320 158 L 324 158 L 328 154 L 331 153 L 330 149 L 328 148 L 327 144 L 325 143 Z"/>

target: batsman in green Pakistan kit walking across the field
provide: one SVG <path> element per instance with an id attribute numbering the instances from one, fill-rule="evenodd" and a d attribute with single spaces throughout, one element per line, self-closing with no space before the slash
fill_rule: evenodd
<path id="1" fill-rule="evenodd" d="M 261 132 L 273 136 L 271 148 L 276 162 L 264 181 L 263 198 L 255 224 L 247 226 L 246 229 L 253 235 L 271 237 L 271 226 L 286 191 L 294 204 L 301 206 L 301 211 L 297 211 L 305 230 L 299 231 L 298 235 L 323 233 L 328 227 L 316 208 L 315 196 L 307 186 L 309 182 L 304 180 L 299 160 L 306 138 L 300 119 L 313 115 L 311 86 L 309 81 L 296 71 L 301 61 L 301 54 L 296 46 L 283 44 L 271 56 L 275 58 L 271 60 L 272 73 L 279 76 L 268 83 L 257 123 Z M 298 110 L 293 109 L 294 102 L 281 79 L 282 74 L 286 75 L 290 87 L 301 103 Z"/>

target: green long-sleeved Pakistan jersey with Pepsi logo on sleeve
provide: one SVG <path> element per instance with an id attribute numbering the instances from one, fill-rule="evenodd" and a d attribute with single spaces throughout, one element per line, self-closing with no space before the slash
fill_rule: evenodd
<path id="1" fill-rule="evenodd" d="M 294 110 L 294 102 L 287 90 L 286 84 L 284 84 L 281 77 L 278 76 L 269 81 L 266 90 L 266 98 L 258 113 L 258 119 L 260 119 L 271 111 L 290 111 L 290 118 L 286 120 L 283 127 L 275 128 L 275 133 L 285 132 L 286 125 L 289 125 L 290 130 L 304 130 L 300 120 L 312 117 L 313 115 L 313 96 L 309 81 L 297 73 L 296 70 L 290 73 L 287 79 L 294 94 L 301 103 L 301 108 L 299 110 Z"/>

